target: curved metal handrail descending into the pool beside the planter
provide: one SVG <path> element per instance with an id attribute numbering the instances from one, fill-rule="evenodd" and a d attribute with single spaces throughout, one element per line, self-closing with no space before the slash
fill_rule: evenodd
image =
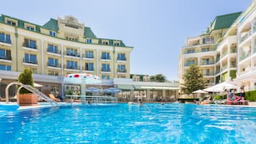
<path id="1" fill-rule="evenodd" d="M 54 100 L 51 100 L 49 97 L 47 97 L 46 95 L 44 95 L 42 92 L 39 92 L 39 90 L 35 89 L 34 87 L 32 87 L 31 85 L 24 85 L 21 82 L 11 82 L 9 83 L 9 85 L 6 86 L 5 89 L 5 93 L 6 93 L 6 103 L 9 102 L 9 87 L 11 85 L 20 85 L 21 87 L 19 87 L 18 91 L 17 91 L 17 102 L 19 102 L 19 90 L 22 89 L 22 87 L 24 87 L 25 89 L 29 90 L 30 92 L 34 93 L 34 95 L 37 95 L 37 97 L 42 98 L 43 100 L 50 102 L 52 106 L 53 103 L 55 103 L 56 106 L 58 106 L 57 102 L 55 102 Z"/>

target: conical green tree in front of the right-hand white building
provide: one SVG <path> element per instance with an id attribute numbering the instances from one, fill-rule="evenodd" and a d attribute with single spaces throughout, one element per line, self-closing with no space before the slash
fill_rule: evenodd
<path id="1" fill-rule="evenodd" d="M 197 65 L 190 65 L 189 69 L 183 75 L 184 84 L 181 84 L 181 91 L 186 94 L 191 94 L 199 89 L 204 89 L 207 85 L 206 80 L 204 80 L 204 75 L 201 69 Z"/>

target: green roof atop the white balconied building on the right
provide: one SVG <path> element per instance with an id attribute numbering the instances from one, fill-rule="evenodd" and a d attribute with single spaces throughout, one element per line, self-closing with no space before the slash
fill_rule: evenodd
<path id="1" fill-rule="evenodd" d="M 221 16 L 216 16 L 213 23 L 211 24 L 209 32 L 212 32 L 212 30 L 229 28 L 237 19 L 237 17 L 240 16 L 241 13 L 242 12 L 236 12 L 232 14 L 224 14 Z"/>

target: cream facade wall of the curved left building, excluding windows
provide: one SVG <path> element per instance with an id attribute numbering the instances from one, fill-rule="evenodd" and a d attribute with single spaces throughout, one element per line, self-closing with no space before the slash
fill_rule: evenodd
<path id="1" fill-rule="evenodd" d="M 10 17 L 5 17 L 5 22 L 8 20 L 15 21 L 16 24 L 19 23 L 17 19 L 11 19 Z M 77 19 L 76 19 L 77 20 Z M 110 79 L 114 77 L 130 77 L 130 55 L 132 47 L 122 47 L 113 45 L 103 45 L 98 44 L 98 40 L 93 39 L 92 43 L 97 44 L 87 44 L 85 43 L 84 25 L 79 24 L 81 29 L 72 29 L 70 27 L 65 27 L 65 19 L 58 19 L 58 29 L 57 37 L 49 36 L 49 29 L 44 29 L 40 27 L 40 32 L 32 32 L 26 29 L 26 24 L 24 23 L 24 28 L 10 26 L 6 23 L 0 23 L 0 33 L 9 34 L 11 37 L 11 44 L 6 44 L 5 42 L 0 42 L 0 49 L 6 49 L 11 51 L 11 60 L 0 59 L 0 64 L 11 65 L 11 71 L 22 72 L 24 67 L 32 68 L 34 73 L 41 75 L 52 75 L 52 72 L 57 73 L 58 76 L 66 75 L 67 73 L 75 72 L 87 72 L 93 75 L 109 75 Z M 34 24 L 30 24 L 37 27 Z M 65 36 L 75 35 L 78 37 L 77 41 L 71 41 L 65 39 Z M 17 37 L 15 37 L 17 36 Z M 32 49 L 29 47 L 24 47 L 24 39 L 32 39 L 37 42 L 37 49 Z M 108 40 L 107 40 L 108 41 Z M 119 42 L 115 40 L 114 42 Z M 47 52 L 48 44 L 54 44 L 57 46 L 58 54 Z M 67 56 L 65 52 L 67 48 L 77 49 L 78 57 Z M 93 51 L 94 58 L 86 59 L 84 57 L 85 51 Z M 115 51 L 115 53 L 114 53 Z M 101 59 L 102 52 L 110 52 L 110 60 Z M 118 53 L 124 53 L 126 60 L 118 61 Z M 37 55 L 37 64 L 27 63 L 24 61 L 24 54 L 34 54 Z M 57 59 L 57 67 L 49 67 L 47 62 L 48 58 Z M 77 62 L 77 69 L 67 69 L 67 60 Z M 92 62 L 94 71 L 85 70 L 85 62 Z M 101 64 L 110 64 L 110 72 L 102 72 Z M 118 64 L 125 65 L 125 72 L 118 72 Z"/>

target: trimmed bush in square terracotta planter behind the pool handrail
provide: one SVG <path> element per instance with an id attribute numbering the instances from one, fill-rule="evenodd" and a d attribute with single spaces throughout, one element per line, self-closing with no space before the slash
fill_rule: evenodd
<path id="1" fill-rule="evenodd" d="M 34 86 L 32 73 L 32 69 L 25 68 L 19 75 L 18 82 L 24 85 Z M 37 95 L 34 95 L 29 90 L 22 88 L 19 94 L 19 105 L 37 105 Z"/>

